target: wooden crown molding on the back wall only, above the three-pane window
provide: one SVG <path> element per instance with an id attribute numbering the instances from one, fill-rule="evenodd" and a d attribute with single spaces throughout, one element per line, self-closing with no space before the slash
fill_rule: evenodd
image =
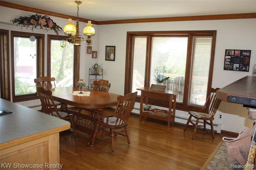
<path id="1" fill-rule="evenodd" d="M 141 18 L 128 20 L 98 21 L 98 25 L 105 24 L 128 24 L 142 22 L 173 22 L 173 21 L 197 21 L 197 20 L 230 20 L 256 18 L 256 13 L 221 14 L 221 15 L 199 15 L 199 16 L 176 16 L 164 18 Z"/>

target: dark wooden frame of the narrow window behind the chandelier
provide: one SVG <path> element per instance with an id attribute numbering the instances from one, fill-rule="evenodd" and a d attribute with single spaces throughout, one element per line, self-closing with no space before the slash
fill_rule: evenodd
<path id="1" fill-rule="evenodd" d="M 47 76 L 51 77 L 51 40 L 65 40 L 67 36 L 47 35 Z M 68 43 L 68 42 L 67 42 Z M 77 86 L 80 70 L 80 45 L 74 45 L 73 87 Z"/>

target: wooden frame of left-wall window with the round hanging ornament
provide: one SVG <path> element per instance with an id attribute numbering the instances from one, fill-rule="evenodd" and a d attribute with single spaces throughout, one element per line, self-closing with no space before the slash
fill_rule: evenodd
<path id="1" fill-rule="evenodd" d="M 29 101 L 34 99 L 39 99 L 36 93 L 25 94 L 25 95 L 15 95 L 15 82 L 14 82 L 14 37 L 24 37 L 29 38 L 30 36 L 35 36 L 38 40 L 37 43 L 37 77 L 44 76 L 45 67 L 45 35 L 36 33 L 26 33 L 20 31 L 11 31 L 11 74 L 12 74 L 12 96 L 13 102 Z"/>

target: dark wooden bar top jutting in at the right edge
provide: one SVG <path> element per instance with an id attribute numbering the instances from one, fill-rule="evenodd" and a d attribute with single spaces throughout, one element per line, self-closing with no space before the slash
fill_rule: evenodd
<path id="1" fill-rule="evenodd" d="M 217 91 L 217 98 L 228 102 L 228 96 L 256 99 L 256 77 L 246 76 Z M 241 102 L 240 102 L 241 101 Z M 242 100 L 237 103 L 244 104 Z"/>

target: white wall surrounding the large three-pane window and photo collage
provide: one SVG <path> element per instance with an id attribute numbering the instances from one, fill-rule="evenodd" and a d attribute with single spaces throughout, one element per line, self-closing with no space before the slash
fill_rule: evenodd
<path id="1" fill-rule="evenodd" d="M 256 19 L 206 20 L 183 22 L 111 24 L 98 26 L 98 63 L 104 68 L 104 79 L 111 82 L 109 92 L 124 94 L 126 33 L 127 31 L 182 31 L 182 30 L 217 30 L 215 60 L 212 87 L 224 86 L 247 75 L 252 75 L 256 63 Z M 105 46 L 116 46 L 115 62 L 105 61 Z M 250 71 L 223 70 L 225 49 L 252 50 Z M 135 107 L 139 107 L 138 104 Z M 232 110 L 230 108 L 233 108 Z M 134 110 L 134 112 L 137 112 Z M 239 132 L 243 127 L 251 127 L 247 118 L 248 110 L 240 104 L 222 102 L 214 123 L 222 124 L 222 130 Z M 223 115 L 218 119 L 219 114 Z M 176 115 L 188 117 L 187 112 L 176 111 Z M 182 120 L 176 119 L 178 122 Z"/>

